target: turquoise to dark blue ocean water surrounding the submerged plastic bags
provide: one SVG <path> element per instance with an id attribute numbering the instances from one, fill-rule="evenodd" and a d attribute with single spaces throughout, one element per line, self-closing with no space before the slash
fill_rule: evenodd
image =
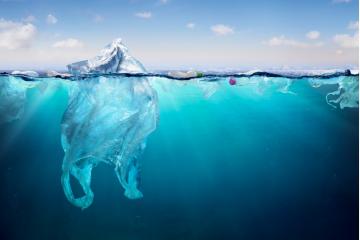
<path id="1" fill-rule="evenodd" d="M 60 181 L 68 88 L 29 88 L 22 116 L 0 125 L 0 239 L 358 239 L 359 109 L 341 108 L 358 92 L 327 97 L 348 79 L 357 89 L 358 76 L 151 77 L 143 198 L 99 164 L 84 210 Z"/>

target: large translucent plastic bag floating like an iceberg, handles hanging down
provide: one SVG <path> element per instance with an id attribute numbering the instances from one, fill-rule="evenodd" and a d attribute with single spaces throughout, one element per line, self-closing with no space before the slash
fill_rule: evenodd
<path id="1" fill-rule="evenodd" d="M 74 74 L 145 72 L 121 40 L 108 45 L 95 59 L 68 67 Z M 125 196 L 142 197 L 137 158 L 145 148 L 146 137 L 156 128 L 156 92 L 144 77 L 89 76 L 75 84 L 62 119 L 65 156 L 61 179 L 66 197 L 81 208 L 91 205 L 91 170 L 100 162 L 114 166 Z M 84 196 L 74 196 L 70 175 L 79 181 Z"/>

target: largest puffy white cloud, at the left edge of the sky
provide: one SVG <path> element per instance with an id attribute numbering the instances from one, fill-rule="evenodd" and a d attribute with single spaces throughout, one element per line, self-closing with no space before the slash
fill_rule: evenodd
<path id="1" fill-rule="evenodd" d="M 0 18 L 0 48 L 14 50 L 30 47 L 36 32 L 36 27 L 31 23 Z"/>

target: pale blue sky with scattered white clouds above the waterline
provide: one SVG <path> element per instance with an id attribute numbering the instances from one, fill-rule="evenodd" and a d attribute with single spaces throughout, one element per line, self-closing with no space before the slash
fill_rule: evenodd
<path id="1" fill-rule="evenodd" d="M 357 0 L 0 0 L 0 69 L 65 70 L 115 38 L 147 69 L 358 68 Z"/>

